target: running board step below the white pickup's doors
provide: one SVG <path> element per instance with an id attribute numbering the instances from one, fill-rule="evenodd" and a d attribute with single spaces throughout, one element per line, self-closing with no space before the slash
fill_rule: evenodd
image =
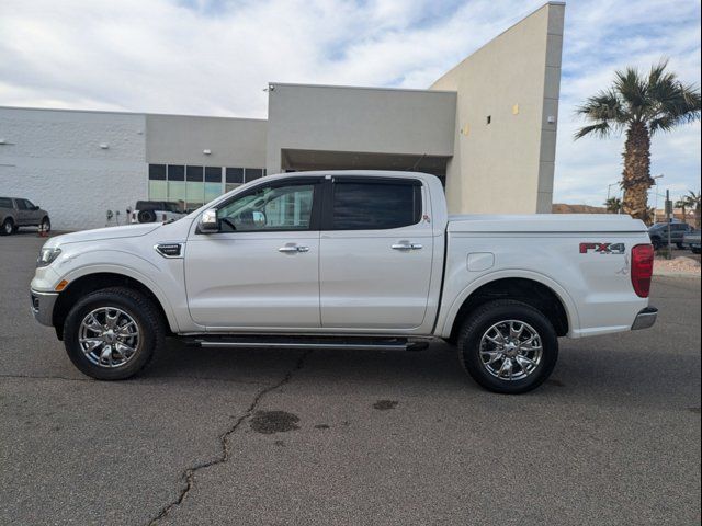
<path id="1" fill-rule="evenodd" d="M 325 338 L 291 335 L 244 335 L 244 336 L 202 336 L 189 338 L 188 345 L 196 347 L 229 348 L 340 348 L 344 351 L 385 350 L 423 351 L 429 346 L 424 340 L 406 338 Z"/>

